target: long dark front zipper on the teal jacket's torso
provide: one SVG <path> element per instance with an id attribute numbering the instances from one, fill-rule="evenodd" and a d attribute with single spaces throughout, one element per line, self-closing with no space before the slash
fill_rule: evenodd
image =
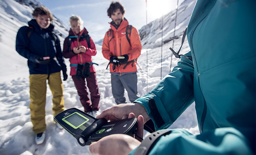
<path id="1" fill-rule="evenodd" d="M 208 14 L 207 14 L 208 15 Z M 203 17 L 203 19 L 205 18 L 205 17 L 207 17 L 207 15 L 206 16 L 204 16 Z M 202 20 L 203 20 L 202 19 Z M 202 21 L 201 20 L 201 21 Z M 200 22 L 201 22 L 200 21 Z M 199 23 L 200 23 L 199 22 Z M 196 28 L 197 28 L 197 26 L 199 25 L 199 23 L 197 23 L 197 25 L 194 27 L 194 29 L 193 29 L 193 31 L 191 32 L 191 34 L 190 34 L 190 45 L 191 45 L 191 52 L 192 52 L 192 54 L 193 54 L 193 57 L 194 57 L 194 62 L 195 62 L 195 65 L 196 65 L 196 69 L 197 69 L 197 82 L 198 82 L 198 87 L 199 87 L 199 89 L 200 89 L 200 91 L 201 91 L 201 94 L 202 94 L 202 97 L 203 97 L 203 103 L 204 103 L 204 105 L 203 105 L 203 114 L 202 114 L 202 117 L 201 117 L 201 123 L 200 123 L 200 132 L 201 133 L 203 133 L 203 124 L 204 124 L 204 120 L 205 120 L 205 117 L 206 117 L 206 114 L 207 114 L 207 105 L 206 105 L 206 102 L 205 102 L 205 99 L 204 99 L 204 96 L 203 96 L 203 93 L 202 93 L 202 90 L 201 90 L 201 86 L 200 86 L 200 80 L 199 80 L 199 71 L 198 71 L 198 65 L 197 65 L 197 61 L 196 61 L 196 57 L 195 57 L 195 53 L 194 53 L 194 48 L 193 48 L 193 44 L 192 44 L 192 39 L 193 39 L 193 35 L 194 35 L 194 32 L 195 32 L 195 30 L 196 30 Z"/>

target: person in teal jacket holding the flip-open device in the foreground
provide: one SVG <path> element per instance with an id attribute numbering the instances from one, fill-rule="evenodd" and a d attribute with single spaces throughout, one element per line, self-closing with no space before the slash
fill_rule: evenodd
<path id="1" fill-rule="evenodd" d="M 187 27 L 190 52 L 185 56 L 193 61 L 181 56 L 153 90 L 133 103 L 104 110 L 97 118 L 142 115 L 144 123 L 152 121 L 159 132 L 195 101 L 200 134 L 174 129 L 151 147 L 145 140 L 110 135 L 92 143 L 90 152 L 137 155 L 144 146 L 149 155 L 255 154 L 255 28 L 255 1 L 198 0 Z M 141 124 L 139 116 L 140 137 Z"/>

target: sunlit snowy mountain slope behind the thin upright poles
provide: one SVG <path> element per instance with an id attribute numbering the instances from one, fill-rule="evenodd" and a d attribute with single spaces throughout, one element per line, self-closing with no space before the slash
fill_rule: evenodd
<path id="1" fill-rule="evenodd" d="M 163 21 L 162 21 L 162 18 L 158 18 L 148 23 L 147 28 L 146 28 L 146 25 L 144 25 L 139 30 L 140 37 L 141 37 L 141 44 L 143 45 L 143 48 L 146 48 L 146 40 L 147 40 L 148 48 L 155 48 L 155 47 L 161 46 L 162 25 L 163 25 L 163 44 L 171 41 L 173 38 L 182 37 L 195 4 L 196 4 L 196 0 L 185 0 L 178 7 L 175 36 L 173 34 L 174 34 L 176 10 L 173 10 L 170 13 L 163 15 Z M 146 29 L 147 29 L 147 39 L 146 39 Z"/>

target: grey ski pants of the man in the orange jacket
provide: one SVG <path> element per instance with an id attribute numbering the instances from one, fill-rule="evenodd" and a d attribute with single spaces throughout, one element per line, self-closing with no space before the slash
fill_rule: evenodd
<path id="1" fill-rule="evenodd" d="M 137 73 L 125 73 L 123 75 L 111 74 L 112 94 L 116 104 L 126 103 L 124 92 L 128 92 L 128 97 L 132 103 L 140 96 L 137 91 Z"/>

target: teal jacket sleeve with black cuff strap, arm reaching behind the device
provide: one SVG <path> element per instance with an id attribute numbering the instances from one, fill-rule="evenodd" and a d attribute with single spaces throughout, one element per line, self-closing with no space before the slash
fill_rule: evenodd
<path id="1" fill-rule="evenodd" d="M 191 57 L 190 52 L 185 55 Z M 194 102 L 193 75 L 193 62 L 182 56 L 181 61 L 171 73 L 166 75 L 149 93 L 134 101 L 145 107 L 148 116 L 154 122 L 156 131 L 168 128 Z M 152 98 L 165 122 L 159 128 L 148 106 L 148 100 Z"/>

